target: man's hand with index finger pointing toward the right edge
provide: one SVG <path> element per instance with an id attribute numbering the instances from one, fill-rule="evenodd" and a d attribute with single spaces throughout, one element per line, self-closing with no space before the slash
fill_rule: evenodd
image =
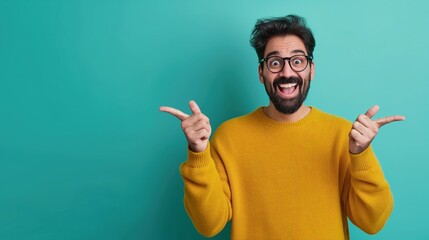
<path id="1" fill-rule="evenodd" d="M 359 115 L 353 123 L 352 130 L 349 137 L 349 151 L 352 154 L 363 152 L 369 144 L 371 144 L 374 137 L 377 135 L 378 130 L 385 124 L 405 120 L 404 116 L 396 115 L 390 117 L 379 118 L 371 120 L 371 118 L 378 112 L 379 106 L 371 107 L 365 114 Z"/>

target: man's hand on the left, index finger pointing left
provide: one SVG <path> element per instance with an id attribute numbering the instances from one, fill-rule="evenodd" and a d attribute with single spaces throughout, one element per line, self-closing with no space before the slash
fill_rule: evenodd
<path id="1" fill-rule="evenodd" d="M 160 107 L 162 112 L 170 113 L 182 121 L 182 129 L 189 143 L 189 148 L 194 152 L 206 150 L 212 128 L 208 117 L 201 113 L 195 101 L 189 102 L 192 115 L 183 113 L 171 107 Z"/>

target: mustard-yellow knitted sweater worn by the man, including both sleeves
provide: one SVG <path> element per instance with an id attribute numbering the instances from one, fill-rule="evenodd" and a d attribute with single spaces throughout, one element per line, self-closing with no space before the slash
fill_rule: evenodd
<path id="1" fill-rule="evenodd" d="M 180 168 L 196 229 L 214 236 L 232 220 L 232 240 L 349 239 L 348 217 L 378 232 L 393 197 L 371 147 L 349 153 L 350 129 L 314 107 L 293 123 L 262 108 L 223 123 Z"/>

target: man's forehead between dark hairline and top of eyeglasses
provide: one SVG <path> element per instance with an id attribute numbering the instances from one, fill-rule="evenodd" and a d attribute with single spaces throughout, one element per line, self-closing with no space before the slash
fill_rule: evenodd
<path id="1" fill-rule="evenodd" d="M 265 47 L 264 56 L 280 55 L 287 57 L 299 53 L 307 55 L 304 42 L 295 35 L 286 35 L 270 38 Z"/>

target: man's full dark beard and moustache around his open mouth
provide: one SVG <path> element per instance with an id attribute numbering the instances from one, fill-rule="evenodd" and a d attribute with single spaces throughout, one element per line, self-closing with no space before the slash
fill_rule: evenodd
<path id="1" fill-rule="evenodd" d="M 277 91 L 279 89 L 279 84 L 285 83 L 297 83 L 298 96 L 291 99 L 284 99 L 278 96 Z M 270 97 L 271 102 L 277 111 L 283 114 L 292 114 L 295 113 L 304 103 L 307 98 L 308 91 L 310 90 L 310 74 L 308 74 L 307 84 L 304 84 L 304 81 L 300 77 L 278 77 L 274 79 L 273 85 L 270 85 L 266 78 L 264 77 L 264 86 L 265 91 Z"/>

